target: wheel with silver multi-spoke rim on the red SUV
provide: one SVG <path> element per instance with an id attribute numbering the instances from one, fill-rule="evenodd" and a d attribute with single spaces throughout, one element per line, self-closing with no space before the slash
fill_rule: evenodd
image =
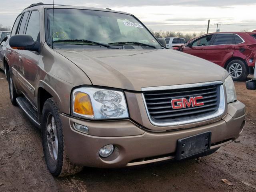
<path id="1" fill-rule="evenodd" d="M 238 59 L 230 61 L 226 70 L 234 81 L 244 81 L 249 74 L 248 66 Z"/>

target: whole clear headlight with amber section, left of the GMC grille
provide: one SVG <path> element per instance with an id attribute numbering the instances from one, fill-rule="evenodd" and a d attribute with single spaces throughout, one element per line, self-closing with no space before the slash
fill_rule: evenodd
<path id="1" fill-rule="evenodd" d="M 72 115 L 90 119 L 128 118 L 124 93 L 82 87 L 72 93 Z"/>

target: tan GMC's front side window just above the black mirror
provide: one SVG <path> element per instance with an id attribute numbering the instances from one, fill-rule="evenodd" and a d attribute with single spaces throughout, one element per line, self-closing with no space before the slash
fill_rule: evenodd
<path id="1" fill-rule="evenodd" d="M 32 11 L 26 34 L 32 36 L 34 41 L 40 41 L 40 16 L 38 11 Z"/>

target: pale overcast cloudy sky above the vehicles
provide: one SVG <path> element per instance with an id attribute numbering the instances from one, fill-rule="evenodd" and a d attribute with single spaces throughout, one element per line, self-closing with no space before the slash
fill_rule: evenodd
<path id="1" fill-rule="evenodd" d="M 39 1 L 52 4 L 52 0 Z M 0 24 L 12 26 L 16 16 L 34 2 L 35 0 L 0 0 Z M 155 31 L 206 32 L 208 19 L 210 32 L 216 31 L 214 23 L 222 23 L 220 31 L 256 29 L 256 0 L 55 0 L 55 4 L 129 12 Z"/>

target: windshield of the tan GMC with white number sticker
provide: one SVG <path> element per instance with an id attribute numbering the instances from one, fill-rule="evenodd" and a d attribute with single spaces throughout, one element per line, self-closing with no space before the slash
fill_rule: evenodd
<path id="1" fill-rule="evenodd" d="M 160 47 L 154 36 L 131 15 L 80 9 L 54 9 L 52 32 L 52 9 L 47 11 L 49 39 L 65 44 L 64 40 L 88 40 L 104 44 L 116 42 L 139 42 Z M 88 42 L 84 42 L 84 44 Z"/>

